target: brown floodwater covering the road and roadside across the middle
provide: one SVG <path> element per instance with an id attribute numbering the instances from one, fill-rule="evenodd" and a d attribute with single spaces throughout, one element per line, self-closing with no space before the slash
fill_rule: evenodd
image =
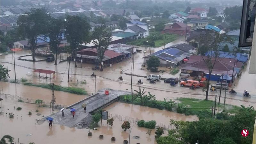
<path id="1" fill-rule="evenodd" d="M 178 44 L 178 43 L 182 43 L 183 37 L 181 37 L 180 39 L 173 41 L 172 43 L 166 44 L 165 47 L 174 45 L 174 44 Z M 80 88 L 84 88 L 88 94 L 92 94 L 95 93 L 95 91 L 100 90 L 100 89 L 104 89 L 104 88 L 111 88 L 111 89 L 118 89 L 118 90 L 131 90 L 131 76 L 125 75 L 124 73 L 130 73 L 132 71 L 133 74 L 136 75 L 141 75 L 141 76 L 148 76 L 149 74 L 159 74 L 159 73 L 152 73 L 150 71 L 148 71 L 146 69 L 146 67 L 141 67 L 141 64 L 143 64 L 143 59 L 142 57 L 144 56 L 144 50 L 146 50 L 146 55 L 148 55 L 150 53 L 150 48 L 146 49 L 145 47 L 140 47 L 140 49 L 142 49 L 142 53 L 137 53 L 134 55 L 134 70 L 131 70 L 132 68 L 132 59 L 131 58 L 127 58 L 126 60 L 113 64 L 112 67 L 107 67 L 104 68 L 103 72 L 100 71 L 93 71 L 92 67 L 94 67 L 93 64 L 86 64 L 86 63 L 79 63 L 77 62 L 77 68 L 73 68 L 73 82 L 69 82 L 68 83 L 68 62 L 62 62 L 58 65 L 54 65 L 54 62 L 46 62 L 46 61 L 39 61 L 39 62 L 30 62 L 30 61 L 19 61 L 19 60 L 15 60 L 15 64 L 16 64 L 16 77 L 17 79 L 20 79 L 21 77 L 26 77 L 30 83 L 54 83 L 60 86 L 75 86 L 75 87 L 80 87 Z M 152 48 L 151 52 L 155 52 L 162 49 L 162 47 L 158 47 L 158 48 Z M 25 50 L 25 51 L 20 51 L 20 52 L 16 52 L 15 53 L 15 57 L 19 57 L 21 55 L 26 55 L 28 54 L 29 51 Z M 1 56 L 1 64 L 4 64 L 5 67 L 7 67 L 8 65 L 8 69 L 11 70 L 9 72 L 9 75 L 11 77 L 11 79 L 14 79 L 14 66 L 11 64 L 7 64 L 4 62 L 11 62 L 13 63 L 13 58 L 12 58 L 12 54 L 8 54 L 8 55 L 2 55 Z M 20 66 L 18 66 L 20 65 Z M 21 67 L 21 66 L 26 66 L 25 67 Z M 73 62 L 73 66 L 74 66 L 74 62 Z M 248 64 L 247 64 L 248 66 Z M 71 64 L 70 64 L 71 67 Z M 35 75 L 33 71 L 33 69 L 30 68 L 40 68 L 40 69 L 48 69 L 48 70 L 54 70 L 56 71 L 56 78 L 49 80 L 49 79 L 40 79 L 38 74 L 37 77 Z M 144 69 L 140 69 L 140 68 L 144 68 Z M 123 74 L 120 74 L 120 69 L 124 69 Z M 161 73 L 161 77 L 165 77 L 165 78 L 169 78 L 169 77 L 179 77 L 179 73 L 176 75 L 171 75 L 169 74 L 170 70 L 168 68 L 159 68 L 159 69 L 164 69 L 166 70 L 166 72 L 164 72 L 163 74 Z M 234 87 L 234 89 L 237 91 L 237 95 L 230 95 L 228 94 L 228 90 L 227 90 L 227 94 L 226 94 L 226 103 L 227 104 L 234 104 L 234 105 L 240 105 L 243 104 L 245 106 L 248 105 L 253 105 L 255 106 L 255 101 L 256 101 L 256 97 L 255 97 L 255 81 L 256 81 L 256 76 L 255 75 L 251 75 L 248 74 L 248 67 L 245 68 L 246 70 L 243 72 L 241 78 L 237 81 L 239 83 L 236 84 L 236 86 Z M 26 75 L 27 72 L 32 73 L 31 76 Z M 71 75 L 71 68 L 70 68 L 70 75 Z M 96 81 L 94 77 L 91 77 L 90 75 L 92 74 L 92 72 L 94 72 L 97 77 L 96 77 Z M 87 76 L 86 76 L 87 75 Z M 124 78 L 124 81 L 120 82 L 117 80 L 117 78 L 122 75 L 122 77 Z M 42 76 L 42 74 L 41 74 Z M 45 75 L 44 75 L 45 76 Z M 49 75 L 48 75 L 49 76 Z M 72 79 L 71 76 L 69 76 L 69 81 Z M 143 84 L 138 84 L 137 81 L 141 79 Z M 86 81 L 86 84 L 82 84 L 82 81 Z M 3 82 L 1 82 L 2 84 Z M 95 88 L 95 83 L 96 83 L 96 88 Z M 15 95 L 21 95 L 22 97 L 37 97 L 37 95 L 26 95 L 24 94 L 20 94 L 19 90 L 16 90 L 18 87 L 22 87 L 22 84 L 3 84 L 3 86 L 1 86 L 1 89 L 4 89 L 4 91 L 7 91 L 9 93 L 14 93 Z M 179 84 L 177 87 L 171 87 L 168 83 L 164 83 L 163 81 L 160 82 L 156 82 L 156 84 L 150 84 L 149 81 L 146 80 L 146 78 L 143 77 L 137 77 L 137 76 L 132 76 L 132 87 L 133 90 L 138 90 L 139 87 L 145 87 L 145 90 L 147 90 L 147 92 L 151 92 L 152 94 L 156 94 L 156 98 L 159 100 L 163 100 L 164 98 L 166 98 L 167 100 L 169 99 L 175 99 L 177 97 L 192 97 L 192 98 L 199 98 L 199 99 L 204 99 L 204 94 L 205 92 L 202 91 L 202 89 L 196 89 L 196 90 L 190 90 L 188 87 L 180 87 Z M 28 87 L 27 87 L 28 88 Z M 32 89 L 34 90 L 36 87 L 33 88 L 25 88 L 23 91 L 31 91 Z M 18 88 L 19 89 L 19 88 Z M 26 90 L 27 89 L 27 90 Z M 250 92 L 250 94 L 252 95 L 251 98 L 247 98 L 247 97 L 242 97 L 243 91 L 244 90 L 248 90 Z M 39 90 L 39 89 L 37 89 Z M 209 92 L 209 99 L 210 100 L 214 100 L 215 99 L 215 95 L 219 95 L 219 91 L 217 92 Z M 4 92 L 4 93 L 7 93 Z M 41 89 L 40 91 L 37 91 L 38 93 L 40 93 L 39 95 L 45 95 L 45 99 L 51 100 L 51 90 L 45 90 L 45 89 Z M 76 100 L 78 100 L 78 96 L 75 96 L 73 94 L 66 94 L 63 92 L 58 92 L 55 91 L 55 96 L 59 95 L 59 98 L 57 98 L 57 101 L 59 99 L 62 99 L 62 95 L 64 95 L 63 97 L 63 101 L 66 103 L 68 103 L 69 101 L 74 102 Z M 8 93 L 7 93 L 8 94 Z M 65 96 L 66 95 L 66 96 Z M 40 96 L 41 97 L 41 96 Z M 79 96 L 79 97 L 84 97 L 84 96 Z M 224 102 L 224 91 L 222 91 L 221 94 L 221 103 Z M 48 100 L 48 101 L 49 101 Z M 59 102 L 61 102 L 62 100 L 59 100 Z"/>

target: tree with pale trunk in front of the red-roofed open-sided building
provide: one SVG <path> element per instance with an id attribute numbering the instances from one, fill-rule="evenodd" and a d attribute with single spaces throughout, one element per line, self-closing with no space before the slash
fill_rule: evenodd
<path id="1" fill-rule="evenodd" d="M 111 30 L 105 25 L 96 27 L 92 33 L 93 44 L 97 46 L 97 54 L 100 60 L 100 71 L 103 71 L 102 61 L 104 53 L 108 49 L 109 42 L 112 40 Z"/>

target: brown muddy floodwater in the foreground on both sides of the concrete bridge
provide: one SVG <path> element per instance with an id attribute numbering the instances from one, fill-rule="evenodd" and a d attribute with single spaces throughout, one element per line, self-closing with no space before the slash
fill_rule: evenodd
<path id="1" fill-rule="evenodd" d="M 13 102 L 12 100 L 2 100 L 1 104 L 1 112 L 4 112 L 0 115 L 1 121 L 1 134 L 0 137 L 9 134 L 14 137 L 14 143 L 23 142 L 35 142 L 36 144 L 52 144 L 52 143 L 61 143 L 61 144 L 71 144 L 71 143 L 85 143 L 85 144 L 109 144 L 111 142 L 111 137 L 116 137 L 116 144 L 123 143 L 123 140 L 129 139 L 128 129 L 124 132 L 121 129 L 122 122 L 118 119 L 114 119 L 114 124 L 112 127 L 107 125 L 107 121 L 103 120 L 102 124 L 99 122 L 101 127 L 98 128 L 97 131 L 90 130 L 92 132 L 92 136 L 88 137 L 89 129 L 76 129 L 69 128 L 62 125 L 55 125 L 53 123 L 52 127 L 48 126 L 48 122 L 45 121 L 41 125 L 36 125 L 36 119 L 42 119 L 43 115 L 47 116 L 51 114 L 50 108 L 43 108 L 36 104 L 28 104 L 28 103 L 19 103 Z M 22 110 L 17 111 L 14 110 L 13 106 L 17 108 L 20 106 Z M 117 108 L 118 106 L 118 108 Z M 9 109 L 9 110 L 8 110 Z M 35 112 L 36 109 L 39 112 Z M 117 110 L 119 109 L 119 110 Z M 32 115 L 28 115 L 28 112 L 32 110 Z M 114 103 L 106 108 L 108 112 L 112 114 L 127 114 L 130 117 L 140 118 L 145 120 L 156 120 L 157 122 L 169 123 L 169 119 L 176 120 L 197 120 L 195 116 L 183 116 L 181 114 L 175 112 L 165 112 L 161 110 L 157 110 L 154 108 L 145 108 L 138 105 L 131 104 L 123 104 L 123 103 Z M 122 111 L 120 111 L 122 110 Z M 9 115 L 6 115 L 6 112 L 13 112 L 14 118 L 9 118 Z M 58 112 L 58 110 L 55 110 Z M 37 116 L 36 113 L 41 113 L 40 116 Z M 18 116 L 17 116 L 18 115 Z M 149 117 L 150 115 L 151 117 Z M 154 116 L 153 116 L 154 115 Z M 22 116 L 22 118 L 21 118 Z M 145 116 L 145 118 L 144 118 Z M 54 121 L 54 120 L 53 120 Z M 132 124 L 131 124 L 132 126 Z M 152 130 L 151 135 L 148 136 L 146 128 L 139 128 L 137 124 L 135 124 L 132 128 L 131 132 L 131 143 L 147 143 L 147 144 L 156 144 L 154 137 L 155 130 Z M 32 134 L 28 136 L 28 134 Z M 104 138 L 99 139 L 99 135 L 103 134 Z M 167 131 L 165 131 L 164 135 L 167 135 Z M 133 139 L 133 136 L 140 136 L 140 139 Z"/>

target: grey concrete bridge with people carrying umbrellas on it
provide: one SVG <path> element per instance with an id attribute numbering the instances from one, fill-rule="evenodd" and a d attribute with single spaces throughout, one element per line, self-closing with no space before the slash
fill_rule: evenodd
<path id="1" fill-rule="evenodd" d="M 55 113 L 47 117 L 52 117 L 54 124 L 64 125 L 68 127 L 76 126 L 80 128 L 88 126 L 91 122 L 91 117 L 92 117 L 90 113 L 96 112 L 97 110 L 103 109 L 109 104 L 116 102 L 117 98 L 121 95 L 130 94 L 130 92 L 121 91 L 121 90 L 108 90 L 108 91 L 109 91 L 108 95 L 105 95 L 105 90 L 100 90 L 95 95 L 87 97 L 75 104 L 68 106 L 67 109 L 63 110 L 64 117 L 62 117 L 61 112 L 59 112 L 59 110 L 55 110 Z M 82 108 L 83 103 L 87 104 L 86 112 L 84 112 L 84 108 Z M 70 113 L 69 108 L 71 107 L 76 109 L 75 118 L 73 118 L 73 116 Z"/>

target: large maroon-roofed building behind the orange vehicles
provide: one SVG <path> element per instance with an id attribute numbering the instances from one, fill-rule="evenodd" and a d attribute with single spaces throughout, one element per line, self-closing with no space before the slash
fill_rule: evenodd
<path id="1" fill-rule="evenodd" d="M 207 59 L 206 56 L 191 55 L 187 63 L 181 65 L 181 73 L 189 74 L 190 76 L 206 76 L 209 79 L 209 69 L 207 68 L 204 59 Z M 215 58 L 212 58 L 212 63 Z M 235 63 L 235 68 L 234 68 Z M 228 76 L 234 76 L 236 78 L 237 74 L 240 73 L 240 70 L 243 66 L 242 62 L 236 61 L 232 58 L 217 58 L 212 74 L 211 81 L 218 81 L 222 74 L 227 74 Z"/>

